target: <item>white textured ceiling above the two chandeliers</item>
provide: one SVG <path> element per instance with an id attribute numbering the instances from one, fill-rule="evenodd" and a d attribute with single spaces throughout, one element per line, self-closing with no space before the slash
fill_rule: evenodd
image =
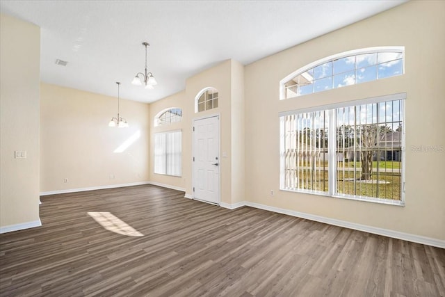
<path id="1" fill-rule="evenodd" d="M 247 65 L 405 1 L 0 1 L 40 26 L 46 83 L 154 102 L 193 74 L 233 58 Z M 148 70 L 154 90 L 131 85 Z M 56 65 L 56 59 L 68 61 Z"/>

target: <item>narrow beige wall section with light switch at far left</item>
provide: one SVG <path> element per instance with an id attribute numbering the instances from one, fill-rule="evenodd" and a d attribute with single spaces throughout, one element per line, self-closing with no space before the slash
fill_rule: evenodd
<path id="1" fill-rule="evenodd" d="M 40 224 L 40 28 L 0 15 L 0 30 L 0 228 L 31 226 Z"/>

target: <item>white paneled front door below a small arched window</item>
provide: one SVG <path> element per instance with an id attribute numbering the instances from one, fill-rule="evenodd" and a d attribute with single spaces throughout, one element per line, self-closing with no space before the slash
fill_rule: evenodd
<path id="1" fill-rule="evenodd" d="M 219 115 L 193 121 L 193 198 L 220 202 Z"/>

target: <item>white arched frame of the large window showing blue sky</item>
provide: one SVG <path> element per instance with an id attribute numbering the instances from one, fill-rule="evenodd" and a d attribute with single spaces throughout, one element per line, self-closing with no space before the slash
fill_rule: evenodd
<path id="1" fill-rule="evenodd" d="M 331 61 L 333 62 L 333 61 L 339 60 L 341 58 L 346 58 L 348 56 L 359 56 L 359 55 L 362 55 L 362 54 L 374 54 L 374 53 L 392 53 L 392 52 L 396 52 L 396 51 L 401 51 L 401 53 L 402 53 L 402 58 L 401 58 L 402 59 L 402 73 L 398 74 L 398 75 L 403 75 L 403 74 L 405 74 L 405 47 L 403 47 L 403 46 L 394 46 L 394 47 L 391 46 L 391 47 L 366 47 L 366 48 L 363 48 L 363 49 L 353 49 L 351 51 L 344 51 L 344 52 L 339 53 L 339 54 L 334 54 L 334 55 L 331 55 L 331 56 L 327 56 L 325 58 L 321 58 L 321 59 L 319 59 L 317 61 L 314 61 L 312 63 L 309 63 L 309 64 L 307 64 L 307 65 L 305 65 L 303 67 L 300 67 L 298 70 L 296 70 L 296 71 L 292 72 L 291 74 L 287 75 L 286 77 L 284 77 L 284 79 L 280 80 L 280 100 L 293 99 L 293 98 L 298 98 L 298 97 L 301 97 L 301 96 L 304 96 L 304 95 L 310 95 L 310 94 L 314 94 L 314 93 L 319 93 L 319 92 L 312 92 L 312 93 L 307 93 L 307 94 L 303 94 L 303 95 L 297 95 L 295 97 L 289 97 L 289 98 L 286 98 L 286 93 L 285 93 L 286 92 L 286 86 L 285 86 L 286 83 L 288 83 L 289 81 L 291 81 L 295 77 L 298 77 L 300 74 L 303 74 L 303 73 L 305 73 L 305 72 L 307 72 L 307 71 L 309 71 L 311 69 L 313 70 L 317 66 L 323 65 L 323 64 L 331 62 Z M 378 61 L 377 61 L 375 66 L 378 67 L 378 65 L 380 65 L 380 63 L 378 63 Z M 372 65 L 372 66 L 374 66 L 374 65 Z M 369 66 L 369 67 L 372 67 L 372 66 Z M 354 68 L 354 71 L 355 70 L 356 69 Z M 335 77 L 335 74 L 332 73 L 332 80 L 334 80 L 334 77 Z M 355 80 L 356 79 L 357 78 L 355 78 Z M 375 81 L 375 80 L 378 80 L 378 78 L 377 79 L 373 79 L 371 81 Z M 364 81 L 364 82 L 367 82 L 367 81 Z M 347 85 L 347 86 L 353 86 L 355 84 L 357 84 L 357 83 L 353 83 L 352 85 Z M 334 88 L 330 88 L 328 90 L 332 90 L 332 89 L 334 89 Z"/>

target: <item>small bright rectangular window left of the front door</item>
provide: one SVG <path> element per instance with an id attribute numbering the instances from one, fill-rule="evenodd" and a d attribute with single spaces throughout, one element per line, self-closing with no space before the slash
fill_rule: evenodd
<path id="1" fill-rule="evenodd" d="M 154 173 L 181 176 L 182 131 L 154 134 Z"/>

